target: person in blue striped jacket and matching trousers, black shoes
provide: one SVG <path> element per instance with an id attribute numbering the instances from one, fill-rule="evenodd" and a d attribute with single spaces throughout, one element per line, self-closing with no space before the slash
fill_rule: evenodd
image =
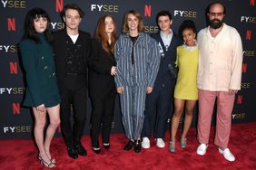
<path id="1" fill-rule="evenodd" d="M 123 34 L 114 47 L 117 73 L 115 82 L 120 94 L 123 127 L 129 142 L 124 150 L 141 152 L 143 111 L 147 93 L 153 84 L 160 64 L 159 46 L 153 38 L 143 33 L 141 14 L 129 11 L 124 16 Z M 134 147 L 133 147 L 134 146 Z"/>

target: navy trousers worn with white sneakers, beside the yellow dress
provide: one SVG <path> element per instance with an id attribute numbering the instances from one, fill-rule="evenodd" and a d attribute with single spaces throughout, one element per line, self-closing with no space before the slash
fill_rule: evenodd
<path id="1" fill-rule="evenodd" d="M 156 84 L 153 92 L 146 96 L 142 137 L 150 138 L 153 131 L 155 138 L 164 138 L 167 119 L 171 117 L 170 108 L 173 107 L 173 87 L 174 80 L 168 86 Z"/>

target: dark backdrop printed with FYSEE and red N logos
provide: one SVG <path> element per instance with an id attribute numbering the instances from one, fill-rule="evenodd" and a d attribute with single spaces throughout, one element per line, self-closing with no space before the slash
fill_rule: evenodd
<path id="1" fill-rule="evenodd" d="M 25 95 L 24 74 L 18 57 L 18 42 L 24 33 L 25 14 L 33 7 L 42 7 L 51 17 L 53 31 L 64 28 L 60 11 L 66 4 L 82 7 L 85 16 L 81 30 L 94 34 L 98 19 L 104 14 L 112 14 L 121 33 L 123 14 L 134 9 L 143 15 L 146 33 L 158 32 L 155 15 L 161 10 L 172 14 L 172 30 L 177 33 L 183 20 L 191 19 L 197 30 L 206 26 L 205 8 L 211 0 L 1 0 L 0 1 L 0 138 L 31 137 L 33 117 L 30 109 L 21 103 Z M 222 0 L 226 6 L 225 23 L 235 27 L 241 34 L 243 44 L 243 64 L 241 90 L 236 95 L 232 112 L 232 123 L 256 121 L 254 112 L 256 83 L 256 3 L 255 0 Z M 51 91 L 49 91 L 51 92 Z M 172 112 L 170 112 L 170 115 Z M 90 129 L 91 103 L 88 99 L 87 120 L 84 134 Z M 196 126 L 197 111 L 193 126 Z M 170 119 L 168 120 L 170 122 Z M 213 121 L 214 123 L 214 121 Z M 182 120 L 181 120 L 182 125 Z M 168 126 L 169 127 L 169 126 Z M 113 133 L 123 133 L 119 99 L 116 98 Z M 60 136 L 60 128 L 56 136 Z"/>

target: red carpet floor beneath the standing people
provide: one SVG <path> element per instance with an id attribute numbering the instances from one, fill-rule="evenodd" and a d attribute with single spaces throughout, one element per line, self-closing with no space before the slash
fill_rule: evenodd
<path id="1" fill-rule="evenodd" d="M 168 151 L 167 142 L 167 146 L 160 149 L 153 140 L 152 147 L 143 149 L 140 154 L 127 152 L 123 150 L 123 145 L 127 142 L 123 134 L 113 134 L 110 150 L 103 150 L 101 155 L 96 155 L 92 151 L 90 137 L 86 136 L 83 137 L 83 145 L 88 156 L 79 156 L 76 160 L 66 155 L 62 137 L 55 137 L 52 151 L 57 167 L 54 169 L 256 169 L 256 123 L 232 125 L 229 147 L 236 156 L 236 161 L 232 163 L 219 154 L 217 146 L 213 145 L 213 135 L 212 128 L 211 144 L 205 156 L 197 156 L 195 153 L 198 146 L 195 128 L 189 132 L 188 147 L 182 149 L 180 143 L 177 143 L 177 152 L 174 154 Z M 167 134 L 166 141 L 169 141 L 169 137 Z M 36 152 L 32 139 L 1 140 L 0 169 L 44 169 L 36 158 Z"/>

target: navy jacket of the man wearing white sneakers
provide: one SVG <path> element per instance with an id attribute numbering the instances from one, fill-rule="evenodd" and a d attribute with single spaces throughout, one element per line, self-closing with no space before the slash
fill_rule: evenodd
<path id="1" fill-rule="evenodd" d="M 172 32 L 173 33 L 173 32 Z M 155 39 L 161 47 L 162 45 L 162 38 L 160 33 L 153 33 L 152 34 L 153 39 Z M 175 61 L 177 56 L 177 47 L 182 44 L 181 39 L 176 33 L 173 33 L 172 35 L 172 41 L 169 45 L 168 51 L 165 50 L 165 47 L 162 47 L 163 55 L 161 56 L 161 63 L 160 68 L 157 74 L 157 78 L 155 83 L 165 83 L 168 84 L 170 79 L 176 78 L 176 68 L 175 68 Z"/>

